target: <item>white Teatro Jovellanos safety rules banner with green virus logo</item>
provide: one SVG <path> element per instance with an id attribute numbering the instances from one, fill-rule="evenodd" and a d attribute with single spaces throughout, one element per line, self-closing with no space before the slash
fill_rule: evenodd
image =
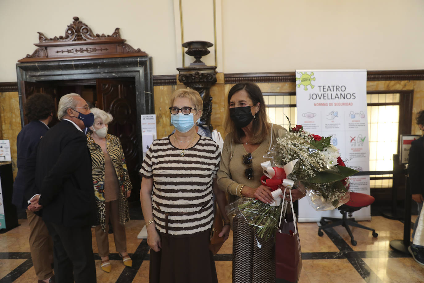
<path id="1" fill-rule="evenodd" d="M 296 70 L 297 123 L 312 134 L 332 136 L 346 166 L 369 171 L 366 70 Z M 350 190 L 370 193 L 369 176 L 351 177 Z M 299 222 L 320 221 L 340 212 L 318 212 L 307 198 L 299 201 Z M 370 207 L 354 213 L 356 220 L 371 220 Z"/>

